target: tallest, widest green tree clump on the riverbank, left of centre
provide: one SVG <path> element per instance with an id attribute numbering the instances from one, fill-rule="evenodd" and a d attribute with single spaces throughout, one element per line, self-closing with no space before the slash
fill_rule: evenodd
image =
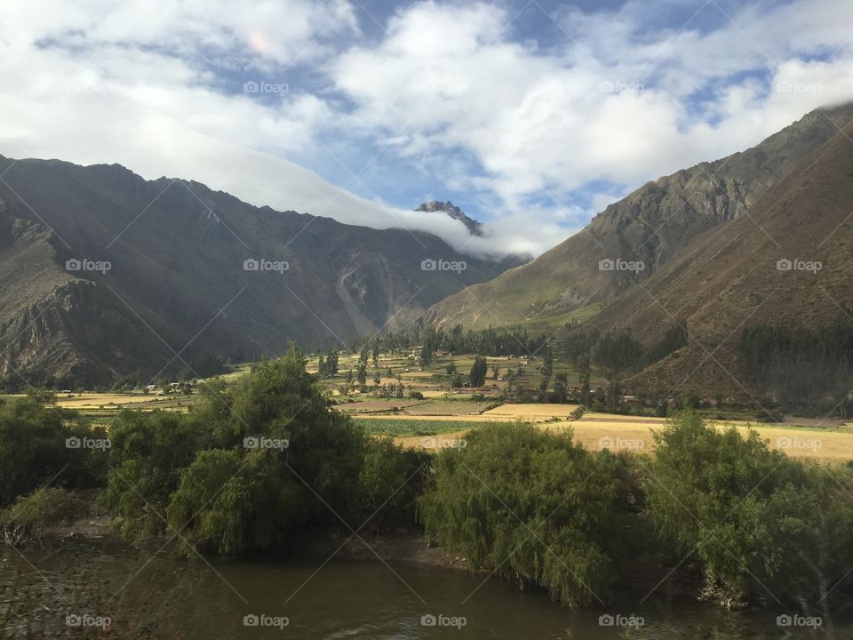
<path id="1" fill-rule="evenodd" d="M 106 501 L 136 543 L 176 536 L 186 555 L 232 555 L 374 512 L 371 526 L 411 522 L 411 489 L 395 482 L 417 456 L 331 411 L 296 348 L 208 388 L 195 412 L 124 414 L 114 431 Z"/>

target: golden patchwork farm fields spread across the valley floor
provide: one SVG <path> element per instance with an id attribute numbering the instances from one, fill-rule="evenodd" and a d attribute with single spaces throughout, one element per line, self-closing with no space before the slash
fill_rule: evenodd
<path id="1" fill-rule="evenodd" d="M 394 436 L 403 446 L 434 451 L 450 446 L 464 437 L 471 428 L 487 427 L 496 422 L 530 422 L 554 431 L 571 429 L 578 442 L 590 449 L 626 449 L 651 452 L 654 448 L 652 432 L 662 428 L 666 420 L 649 416 L 634 416 L 603 412 L 586 412 L 579 420 L 572 420 L 578 404 L 500 404 L 497 396 L 506 388 L 501 374 L 521 367 L 520 380 L 529 380 L 532 386 L 540 375 L 538 363 L 527 357 L 490 357 L 489 378 L 484 388 L 451 388 L 452 376 L 446 372 L 453 361 L 458 372 L 466 376 L 473 356 L 437 356 L 430 366 L 420 369 L 410 356 L 379 356 L 379 366 L 369 363 L 367 385 L 355 390 L 347 385 L 346 373 L 358 366 L 357 355 L 341 355 L 339 375 L 320 380 L 331 397 L 335 408 L 352 416 L 368 433 Z M 492 367 L 498 367 L 498 379 L 492 378 Z M 555 369 L 559 371 L 559 363 Z M 317 361 L 309 360 L 308 371 L 316 370 Z M 233 384 L 250 365 L 243 364 L 235 372 L 223 376 Z M 574 374 L 568 368 L 563 371 Z M 389 375 L 390 372 L 390 375 Z M 403 397 L 383 397 L 377 393 L 374 377 L 379 377 L 379 387 L 403 385 Z M 412 394 L 423 397 L 411 397 Z M 133 411 L 187 411 L 197 400 L 180 394 L 135 393 L 75 393 L 60 394 L 57 404 L 74 409 L 95 419 L 108 419 L 122 409 Z M 797 457 L 820 460 L 853 460 L 853 427 L 838 422 L 826 425 L 820 420 L 786 417 L 782 424 L 750 423 L 749 412 L 729 412 L 718 420 L 712 410 L 706 410 L 706 419 L 715 425 L 732 425 L 745 432 L 752 426 L 769 446 L 784 450 Z M 440 435 L 440 438 L 428 436 Z"/>

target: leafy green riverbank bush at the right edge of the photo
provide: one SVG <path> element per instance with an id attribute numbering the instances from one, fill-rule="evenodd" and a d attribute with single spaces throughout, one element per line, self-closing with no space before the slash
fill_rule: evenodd
<path id="1" fill-rule="evenodd" d="M 817 602 L 853 561 L 849 472 L 770 451 L 759 436 L 686 412 L 656 434 L 650 516 L 721 590 Z M 816 596 L 817 597 L 814 597 Z"/>

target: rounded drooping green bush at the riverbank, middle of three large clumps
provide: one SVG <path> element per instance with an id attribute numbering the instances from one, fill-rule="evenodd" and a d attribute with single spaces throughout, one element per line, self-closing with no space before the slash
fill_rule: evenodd
<path id="1" fill-rule="evenodd" d="M 623 471 L 616 456 L 587 452 L 570 434 L 496 424 L 436 457 L 420 515 L 432 540 L 472 566 L 491 564 L 577 607 L 601 599 L 618 574 Z"/>

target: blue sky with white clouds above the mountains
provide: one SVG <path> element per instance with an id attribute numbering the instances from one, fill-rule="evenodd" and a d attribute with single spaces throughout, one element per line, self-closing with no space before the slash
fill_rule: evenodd
<path id="1" fill-rule="evenodd" d="M 850 0 L 0 0 L 0 155 L 538 255 L 853 99 L 851 25 Z"/>

